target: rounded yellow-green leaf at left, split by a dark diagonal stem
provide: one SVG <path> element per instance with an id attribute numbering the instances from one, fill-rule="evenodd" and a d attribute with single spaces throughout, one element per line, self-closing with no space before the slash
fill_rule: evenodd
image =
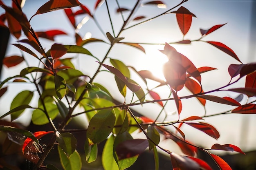
<path id="1" fill-rule="evenodd" d="M 45 115 L 45 112 L 42 110 L 43 106 L 40 106 L 40 108 L 35 109 L 32 114 L 32 122 L 35 125 L 44 125 L 49 123 L 49 120 L 47 116 Z M 47 113 L 49 117 L 53 120 L 59 113 L 58 107 L 53 103 L 45 103 L 45 107 L 47 110 Z"/>

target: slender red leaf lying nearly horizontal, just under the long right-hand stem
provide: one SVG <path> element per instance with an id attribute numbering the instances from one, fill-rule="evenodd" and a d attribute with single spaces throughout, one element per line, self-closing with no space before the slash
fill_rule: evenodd
<path id="1" fill-rule="evenodd" d="M 241 106 L 239 102 L 237 102 L 235 99 L 232 99 L 230 97 L 218 97 L 218 96 L 212 96 L 212 95 L 200 95 L 198 97 L 207 99 L 216 103 L 227 104 L 231 106 Z"/>

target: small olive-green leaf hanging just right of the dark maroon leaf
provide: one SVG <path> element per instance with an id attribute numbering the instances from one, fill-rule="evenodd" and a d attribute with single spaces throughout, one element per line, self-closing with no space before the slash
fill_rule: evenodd
<path id="1" fill-rule="evenodd" d="M 151 139 L 153 142 L 155 142 L 155 144 L 159 144 L 160 135 L 154 126 L 148 125 L 147 135 L 148 135 L 149 139 Z M 149 139 L 148 139 L 148 144 L 149 144 L 148 148 L 150 151 L 151 149 L 155 148 L 155 144 L 152 141 L 150 141 Z"/>

